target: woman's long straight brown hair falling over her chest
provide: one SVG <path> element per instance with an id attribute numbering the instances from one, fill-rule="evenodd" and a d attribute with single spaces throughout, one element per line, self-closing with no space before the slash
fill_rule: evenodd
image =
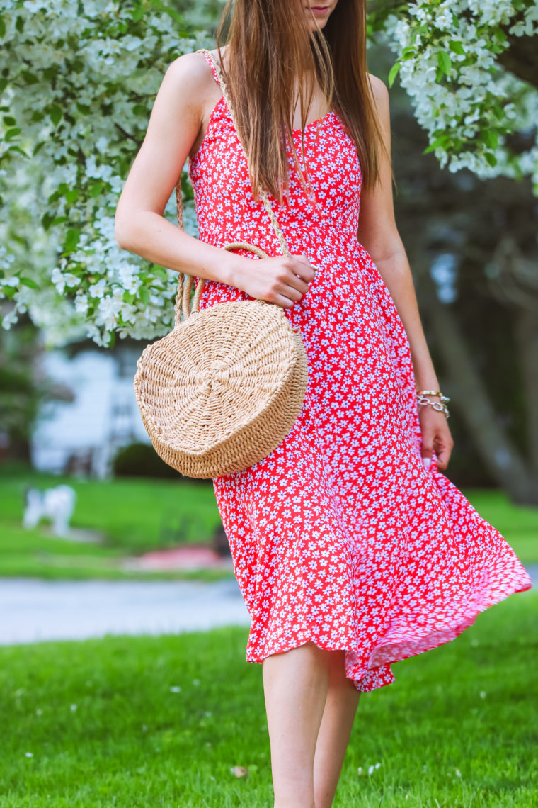
<path id="1" fill-rule="evenodd" d="M 217 44 L 255 195 L 260 185 L 278 200 L 286 195 L 286 141 L 304 177 L 292 124 L 295 104 L 302 130 L 307 123 L 314 93 L 308 75 L 315 76 L 327 108 L 340 116 L 356 145 L 363 186 L 376 185 L 382 135 L 366 67 L 365 5 L 339 0 L 326 26 L 310 32 L 302 0 L 228 0 Z"/>

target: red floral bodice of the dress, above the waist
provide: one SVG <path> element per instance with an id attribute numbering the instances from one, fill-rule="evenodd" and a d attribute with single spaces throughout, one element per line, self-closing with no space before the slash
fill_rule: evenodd
<path id="1" fill-rule="evenodd" d="M 300 130 L 294 131 L 294 141 L 301 158 Z M 304 130 L 310 194 L 290 146 L 288 154 L 289 204 L 270 199 L 290 250 L 319 249 L 334 238 L 340 246 L 357 244 L 361 168 L 355 145 L 336 112 L 327 112 Z M 252 196 L 244 150 L 222 98 L 211 112 L 202 145 L 190 160 L 190 179 L 202 241 L 215 246 L 253 242 L 269 255 L 277 255 L 277 239 L 261 200 Z"/>

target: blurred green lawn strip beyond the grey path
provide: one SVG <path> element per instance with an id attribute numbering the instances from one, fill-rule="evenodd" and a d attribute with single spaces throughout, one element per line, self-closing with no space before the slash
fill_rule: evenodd
<path id="1" fill-rule="evenodd" d="M 102 544 L 76 544 L 50 536 L 46 527 L 22 528 L 26 486 L 44 490 L 68 482 L 77 492 L 73 528 L 98 532 Z M 524 564 L 538 564 L 538 508 L 513 505 L 497 490 L 465 494 L 507 538 Z M 210 542 L 219 525 L 211 482 L 154 479 L 77 480 L 0 467 L 0 577 L 49 579 L 185 578 L 184 572 L 136 573 L 121 559 L 186 542 Z M 206 571 L 214 579 L 226 572 Z M 196 573 L 200 577 L 199 573 Z"/>

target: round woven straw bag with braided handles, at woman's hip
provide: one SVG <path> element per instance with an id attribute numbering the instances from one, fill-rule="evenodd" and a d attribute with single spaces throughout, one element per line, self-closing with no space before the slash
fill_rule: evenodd
<path id="1" fill-rule="evenodd" d="M 176 195 L 181 226 L 180 183 Z M 269 198 L 261 196 L 290 255 Z M 224 249 L 268 257 L 245 243 Z M 200 311 L 203 284 L 198 280 L 190 310 L 193 277 L 180 276 L 175 326 L 140 356 L 135 393 L 157 454 L 187 477 L 215 478 L 261 461 L 288 435 L 307 388 L 307 355 L 284 309 L 231 301 Z"/>

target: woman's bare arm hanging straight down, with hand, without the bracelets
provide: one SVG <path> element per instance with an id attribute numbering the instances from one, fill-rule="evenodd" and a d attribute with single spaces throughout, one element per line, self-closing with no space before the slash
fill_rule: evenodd
<path id="1" fill-rule="evenodd" d="M 372 256 L 402 319 L 411 347 L 417 389 L 439 390 L 439 381 L 420 321 L 411 268 L 394 219 L 392 176 L 387 157 L 390 154 L 389 94 L 382 81 L 373 76 L 371 80 L 386 154 L 381 157 L 380 182 L 361 196 L 358 238 Z M 423 431 L 423 457 L 431 457 L 431 450 L 435 448 L 440 457 L 439 466 L 444 469 L 453 446 L 446 419 L 442 413 L 427 405 L 419 407 L 419 415 Z"/>

